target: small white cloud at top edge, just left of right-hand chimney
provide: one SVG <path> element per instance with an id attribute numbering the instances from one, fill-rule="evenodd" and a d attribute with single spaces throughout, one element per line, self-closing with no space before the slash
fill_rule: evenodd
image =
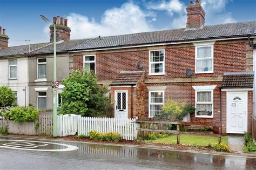
<path id="1" fill-rule="evenodd" d="M 173 12 L 180 13 L 184 9 L 183 3 L 181 3 L 179 0 L 170 0 L 169 2 L 161 1 L 159 3 L 152 3 L 149 2 L 146 4 L 147 9 L 153 9 L 153 10 L 166 10 L 169 12 L 170 15 L 173 15 Z"/>

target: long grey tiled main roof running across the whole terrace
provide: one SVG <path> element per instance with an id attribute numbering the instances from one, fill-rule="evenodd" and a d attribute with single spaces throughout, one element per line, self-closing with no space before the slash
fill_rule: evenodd
<path id="1" fill-rule="evenodd" d="M 86 30 L 85 30 L 86 31 Z M 204 26 L 197 30 L 163 30 L 132 33 L 129 35 L 109 36 L 69 40 L 57 44 L 57 52 L 72 50 L 92 50 L 106 47 L 124 47 L 154 43 L 171 43 L 190 40 L 244 37 L 256 35 L 256 21 Z M 45 46 L 45 47 L 44 47 Z M 16 56 L 27 53 L 28 45 L 0 49 L 1 56 Z M 36 50 L 37 49 L 37 50 Z M 31 44 L 31 54 L 52 53 L 53 44 Z"/>

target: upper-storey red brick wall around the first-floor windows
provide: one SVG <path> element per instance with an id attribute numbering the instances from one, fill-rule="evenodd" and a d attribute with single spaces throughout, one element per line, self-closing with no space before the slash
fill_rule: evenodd
<path id="1" fill-rule="evenodd" d="M 214 44 L 214 73 L 195 74 L 194 77 L 223 76 L 224 72 L 246 70 L 245 40 L 221 41 Z M 112 51 L 96 53 L 96 72 L 98 80 L 112 80 L 120 71 L 137 70 L 138 61 L 143 63 L 146 79 L 151 78 L 185 78 L 187 68 L 195 70 L 195 47 L 193 44 L 169 45 L 165 48 L 165 76 L 147 76 L 149 73 L 149 50 Z M 83 69 L 83 55 L 73 57 L 73 68 Z"/>

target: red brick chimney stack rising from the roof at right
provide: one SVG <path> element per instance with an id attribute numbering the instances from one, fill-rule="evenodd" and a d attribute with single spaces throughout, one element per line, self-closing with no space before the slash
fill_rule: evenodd
<path id="1" fill-rule="evenodd" d="M 199 0 L 187 6 L 187 29 L 201 29 L 205 25 L 205 11 Z"/>

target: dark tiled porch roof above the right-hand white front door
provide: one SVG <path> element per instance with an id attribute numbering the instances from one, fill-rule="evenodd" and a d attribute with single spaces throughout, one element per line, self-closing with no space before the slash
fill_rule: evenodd
<path id="1" fill-rule="evenodd" d="M 224 73 L 222 88 L 251 88 L 253 87 L 253 72 Z"/>

